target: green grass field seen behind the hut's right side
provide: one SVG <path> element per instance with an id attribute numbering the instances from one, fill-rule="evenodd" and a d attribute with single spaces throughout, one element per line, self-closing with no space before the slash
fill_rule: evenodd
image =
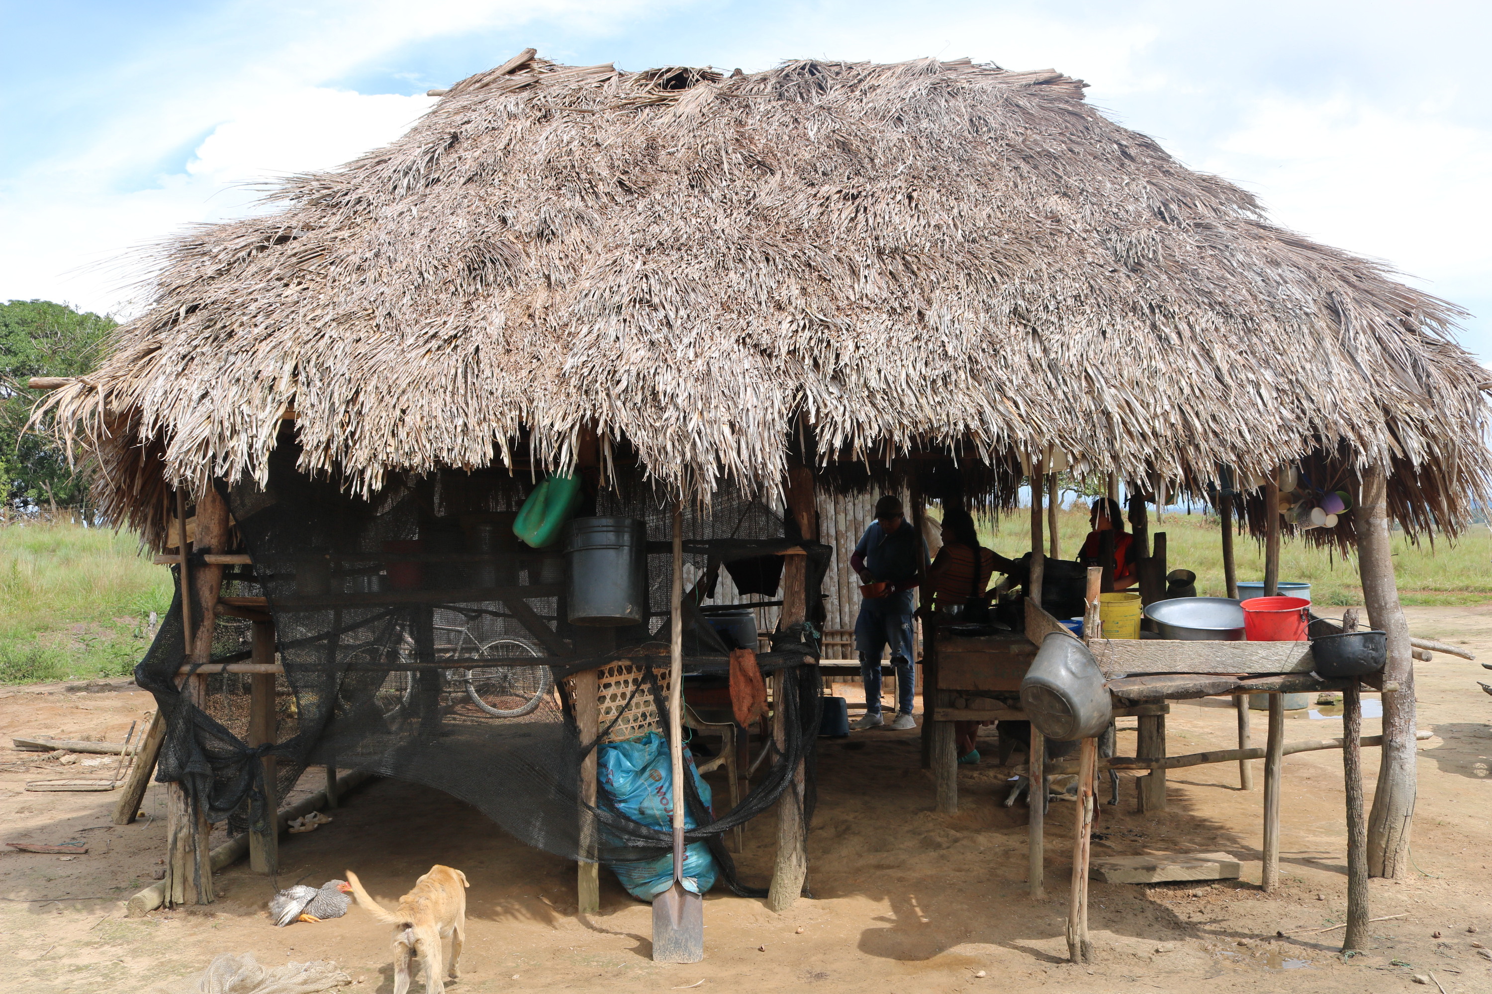
<path id="1" fill-rule="evenodd" d="M 1073 559 L 1088 535 L 1088 513 L 1062 511 L 1061 553 Z M 1031 547 L 1031 513 L 1026 510 L 982 522 L 983 544 L 1003 556 L 1019 556 Z M 1222 534 L 1214 516 L 1167 514 L 1159 523 L 1150 514 L 1150 534 L 1165 532 L 1165 565 L 1197 574 L 1197 593 L 1226 596 L 1222 578 Z M 1473 525 L 1453 542 L 1437 538 L 1434 545 L 1414 545 L 1395 538 L 1395 575 L 1404 604 L 1480 604 L 1492 598 L 1492 531 Z M 1238 580 L 1264 580 L 1264 544 L 1234 536 Z M 1311 584 L 1311 601 L 1319 605 L 1362 604 L 1362 583 L 1355 559 L 1314 548 L 1300 541 L 1285 541 L 1280 548 L 1280 580 Z"/>

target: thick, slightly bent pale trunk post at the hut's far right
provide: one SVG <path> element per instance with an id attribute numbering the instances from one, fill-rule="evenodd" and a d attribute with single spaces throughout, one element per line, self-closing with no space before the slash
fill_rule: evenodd
<path id="1" fill-rule="evenodd" d="M 1358 507 L 1358 569 L 1368 623 L 1388 633 L 1388 665 L 1383 680 L 1398 690 L 1383 694 L 1383 756 L 1368 814 L 1368 873 L 1407 876 L 1408 843 L 1414 818 L 1414 660 L 1410 654 L 1408 623 L 1394 583 L 1394 541 L 1389 532 L 1388 478 L 1380 468 L 1362 472 Z"/>

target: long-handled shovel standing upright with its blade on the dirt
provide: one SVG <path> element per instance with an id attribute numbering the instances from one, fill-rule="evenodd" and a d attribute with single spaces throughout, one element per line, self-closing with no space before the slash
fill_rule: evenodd
<path id="1" fill-rule="evenodd" d="M 668 759 L 673 762 L 673 884 L 653 894 L 653 961 L 704 958 L 704 899 L 683 882 L 683 502 L 673 505 Z"/>

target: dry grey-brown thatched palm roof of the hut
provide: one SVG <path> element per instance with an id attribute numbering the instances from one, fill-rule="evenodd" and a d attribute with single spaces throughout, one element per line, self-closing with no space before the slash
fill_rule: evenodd
<path id="1" fill-rule="evenodd" d="M 1394 460 L 1437 514 L 1488 490 L 1492 377 L 1453 306 L 1082 89 L 967 60 L 513 60 L 164 246 L 149 311 L 52 404 L 116 507 L 152 447 L 178 480 L 263 474 L 288 408 L 304 468 L 358 489 L 519 446 L 564 465 L 583 426 L 671 484 L 776 486 L 801 414 L 841 456 L 1055 446 L 1198 481 L 1325 449 Z"/>

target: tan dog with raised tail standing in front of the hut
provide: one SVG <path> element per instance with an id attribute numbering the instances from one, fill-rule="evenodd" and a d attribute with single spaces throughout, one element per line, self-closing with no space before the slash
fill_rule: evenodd
<path id="1" fill-rule="evenodd" d="M 415 890 L 398 899 L 398 911 L 388 912 L 363 890 L 358 875 L 348 870 L 348 887 L 358 905 L 379 921 L 394 925 L 394 994 L 409 991 L 409 960 L 425 964 L 425 994 L 442 994 L 446 982 L 440 973 L 442 940 L 451 936 L 451 979 L 460 976 L 461 940 L 466 937 L 466 873 L 449 866 L 431 866 L 415 881 Z"/>

